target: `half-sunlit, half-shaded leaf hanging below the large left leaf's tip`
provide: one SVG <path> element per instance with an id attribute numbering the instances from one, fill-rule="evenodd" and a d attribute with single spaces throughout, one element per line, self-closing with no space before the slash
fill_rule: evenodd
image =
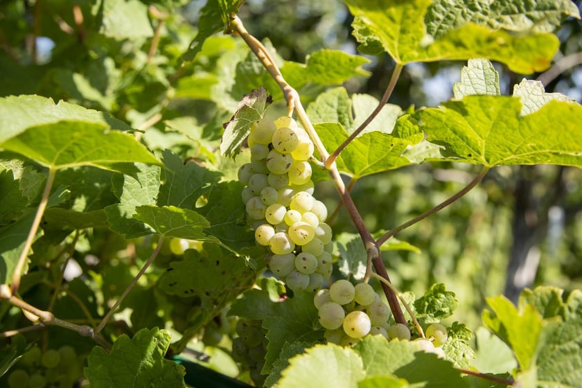
<path id="1" fill-rule="evenodd" d="M 109 229 L 125 238 L 136 238 L 153 233 L 153 229 L 139 222 L 133 216 L 136 206 L 154 205 L 159 193 L 160 168 L 138 164 L 140 172 L 136 178 L 128 175 L 114 179 L 114 190 L 119 204 L 105 207 Z M 121 181 L 121 182 L 120 182 Z"/>

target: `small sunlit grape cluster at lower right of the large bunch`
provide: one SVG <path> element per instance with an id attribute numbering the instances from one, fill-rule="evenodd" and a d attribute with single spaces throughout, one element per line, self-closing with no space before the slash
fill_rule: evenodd
<path id="1" fill-rule="evenodd" d="M 313 303 L 327 342 L 351 346 L 366 335 L 389 337 L 390 309 L 368 283 L 335 281 L 329 289 L 319 290 Z"/>

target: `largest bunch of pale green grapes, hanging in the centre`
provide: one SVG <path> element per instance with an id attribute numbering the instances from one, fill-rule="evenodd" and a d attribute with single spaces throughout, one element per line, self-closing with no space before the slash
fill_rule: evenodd
<path id="1" fill-rule="evenodd" d="M 251 162 L 238 179 L 256 242 L 270 249 L 269 269 L 291 290 L 315 292 L 332 272 L 333 245 L 326 206 L 312 195 L 313 143 L 287 116 L 253 123 L 247 143 Z"/>

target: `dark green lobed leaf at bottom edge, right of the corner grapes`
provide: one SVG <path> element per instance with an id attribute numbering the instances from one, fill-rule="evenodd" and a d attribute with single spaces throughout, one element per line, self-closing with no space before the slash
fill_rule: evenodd
<path id="1" fill-rule="evenodd" d="M 95 346 L 85 377 L 91 387 L 184 387 L 184 367 L 164 360 L 171 335 L 159 328 L 141 329 L 132 339 L 123 334 L 107 353 Z"/>

